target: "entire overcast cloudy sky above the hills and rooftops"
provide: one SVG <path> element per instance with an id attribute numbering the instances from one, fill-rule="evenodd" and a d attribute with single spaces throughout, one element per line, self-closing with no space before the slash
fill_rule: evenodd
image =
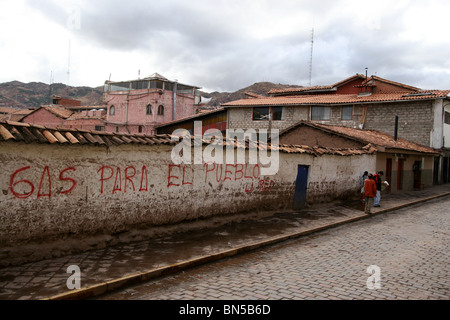
<path id="1" fill-rule="evenodd" d="M 0 0 L 0 82 L 94 87 L 158 72 L 211 92 L 368 68 L 450 89 L 448 12 L 448 0 Z"/>

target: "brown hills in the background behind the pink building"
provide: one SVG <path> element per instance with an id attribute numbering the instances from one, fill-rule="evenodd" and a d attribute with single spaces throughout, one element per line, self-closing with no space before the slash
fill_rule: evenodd
<path id="1" fill-rule="evenodd" d="M 271 89 L 290 87 L 298 86 L 257 82 L 235 92 L 201 92 L 201 95 L 205 98 L 203 100 L 207 100 L 207 102 L 205 101 L 206 107 L 217 108 L 223 103 L 246 98 L 246 92 L 267 96 Z M 17 109 L 37 108 L 41 105 L 51 104 L 52 95 L 80 100 L 83 106 L 95 106 L 103 104 L 102 94 L 103 86 L 95 88 L 71 87 L 62 83 L 54 83 L 50 86 L 42 82 L 22 83 L 20 81 L 11 81 L 0 83 L 0 107 Z"/>

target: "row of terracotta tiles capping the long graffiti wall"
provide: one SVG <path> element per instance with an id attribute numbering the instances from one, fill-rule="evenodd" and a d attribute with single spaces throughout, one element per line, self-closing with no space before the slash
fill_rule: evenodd
<path id="1" fill-rule="evenodd" d="M 192 145 L 195 139 L 192 136 Z M 123 133 L 99 132 L 80 129 L 55 129 L 39 125 L 32 125 L 23 122 L 0 121 L 0 143 L 1 142 L 25 142 L 42 143 L 57 145 L 103 145 L 117 146 L 122 144 L 141 144 L 141 145 L 176 145 L 177 141 L 172 141 L 172 136 L 168 134 L 147 136 L 131 135 Z M 202 144 L 209 144 L 210 141 L 202 140 Z M 249 148 L 248 141 L 245 145 L 236 141 L 223 141 L 223 146 L 231 143 L 236 148 Z M 363 148 L 342 149 L 342 148 L 324 148 L 296 145 L 280 145 L 278 147 L 258 144 L 259 149 L 279 150 L 284 153 L 309 154 L 320 156 L 324 154 L 351 156 L 361 154 L 373 154 L 376 149 L 372 145 Z"/>

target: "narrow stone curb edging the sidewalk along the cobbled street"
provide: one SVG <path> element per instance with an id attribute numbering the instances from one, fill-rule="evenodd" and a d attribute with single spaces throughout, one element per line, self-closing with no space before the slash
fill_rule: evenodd
<path id="1" fill-rule="evenodd" d="M 140 282 L 149 281 L 149 280 L 152 280 L 152 279 L 155 279 L 155 278 L 158 278 L 158 277 L 162 277 L 162 276 L 166 276 L 166 275 L 170 275 L 170 274 L 174 274 L 174 273 L 180 272 L 180 271 L 188 269 L 188 268 L 192 268 L 192 267 L 196 267 L 196 266 L 203 265 L 203 264 L 206 264 L 206 263 L 218 261 L 218 260 L 221 260 L 221 259 L 224 259 L 224 258 L 227 258 L 227 257 L 232 257 L 232 256 L 235 256 L 235 255 L 244 253 L 244 252 L 249 252 L 249 251 L 252 251 L 252 250 L 256 250 L 256 249 L 259 249 L 259 248 L 262 248 L 262 247 L 265 247 L 265 246 L 269 246 L 269 245 L 272 245 L 272 244 L 276 244 L 276 243 L 279 243 L 279 242 L 283 242 L 283 241 L 286 241 L 286 240 L 299 238 L 299 237 L 302 237 L 302 236 L 310 235 L 312 233 L 320 232 L 320 231 L 331 229 L 331 228 L 336 228 L 338 226 L 341 226 L 341 225 L 344 225 L 344 224 L 347 224 L 347 223 L 351 223 L 351 222 L 356 222 L 356 221 L 359 221 L 359 220 L 367 219 L 367 218 L 370 218 L 370 217 L 375 216 L 375 215 L 387 213 L 387 212 L 394 211 L 394 210 L 403 209 L 405 207 L 413 206 L 413 205 L 418 204 L 418 203 L 430 201 L 430 200 L 441 198 L 441 197 L 445 197 L 445 196 L 448 196 L 448 195 L 450 195 L 450 192 L 446 192 L 446 193 L 443 193 L 443 194 L 430 196 L 430 197 L 427 197 L 427 198 L 422 198 L 420 200 L 411 201 L 411 202 L 408 202 L 408 203 L 405 203 L 405 204 L 402 204 L 402 205 L 398 205 L 398 206 L 395 206 L 395 207 L 392 207 L 392 208 L 382 209 L 382 210 L 379 210 L 377 212 L 372 213 L 371 215 L 362 214 L 362 215 L 359 215 L 359 216 L 356 216 L 356 217 L 353 217 L 353 218 L 337 221 L 335 223 L 331 223 L 331 224 L 328 224 L 328 225 L 325 225 L 325 226 L 311 228 L 311 229 L 308 229 L 308 230 L 295 232 L 295 233 L 291 233 L 291 234 L 286 234 L 286 235 L 282 235 L 282 236 L 278 236 L 278 237 L 272 237 L 272 238 L 269 238 L 269 239 L 264 240 L 264 241 L 246 244 L 246 245 L 239 246 L 239 247 L 236 247 L 236 248 L 232 248 L 232 249 L 229 249 L 229 250 L 221 251 L 221 252 L 218 252 L 218 253 L 215 253 L 215 254 L 210 254 L 210 255 L 207 255 L 207 256 L 201 256 L 201 257 L 194 258 L 194 259 L 191 259 L 191 260 L 175 263 L 175 264 L 172 264 L 170 266 L 165 266 L 165 267 L 161 267 L 161 268 L 152 269 L 152 270 L 148 270 L 148 271 L 145 271 L 145 272 L 129 275 L 129 276 L 126 276 L 126 277 L 115 279 L 115 280 L 103 282 L 103 283 L 100 283 L 98 285 L 93 285 L 93 286 L 90 286 L 90 287 L 87 287 L 87 288 L 82 288 L 82 289 L 78 289 L 78 290 L 73 290 L 73 291 L 61 293 L 61 294 L 58 294 L 58 295 L 55 295 L 55 296 L 52 296 L 52 297 L 44 298 L 42 300 L 82 300 L 82 299 L 87 299 L 87 298 L 99 296 L 99 295 L 102 295 L 102 294 L 104 294 L 106 292 L 117 290 L 117 289 L 125 287 L 125 286 L 137 284 L 137 283 L 140 283 Z"/>

